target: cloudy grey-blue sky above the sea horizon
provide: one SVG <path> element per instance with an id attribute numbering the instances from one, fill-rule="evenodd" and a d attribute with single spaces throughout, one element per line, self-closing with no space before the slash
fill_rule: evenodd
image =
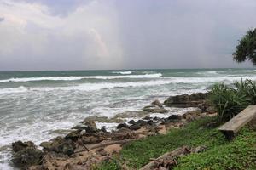
<path id="1" fill-rule="evenodd" d="M 0 71 L 236 68 L 255 0 L 0 0 Z"/>

